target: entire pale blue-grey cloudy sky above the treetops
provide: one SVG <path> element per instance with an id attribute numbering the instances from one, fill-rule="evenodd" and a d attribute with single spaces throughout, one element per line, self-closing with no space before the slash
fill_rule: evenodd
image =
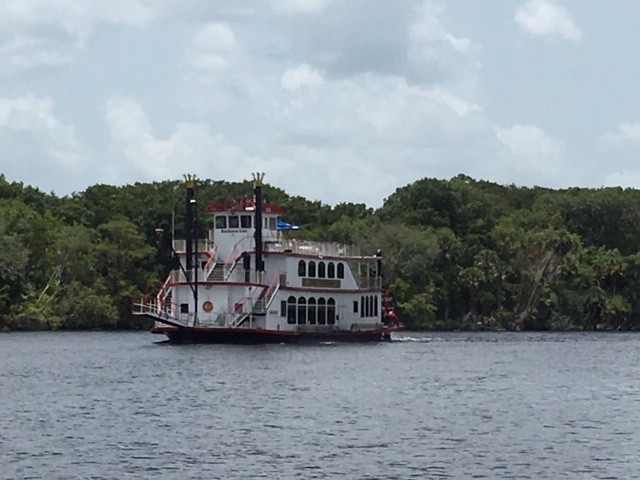
<path id="1" fill-rule="evenodd" d="M 635 0 L 0 0 L 0 173 L 640 187 Z"/>

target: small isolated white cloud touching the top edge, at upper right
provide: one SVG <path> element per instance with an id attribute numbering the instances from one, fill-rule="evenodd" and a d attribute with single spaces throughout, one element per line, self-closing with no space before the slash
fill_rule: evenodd
<path id="1" fill-rule="evenodd" d="M 582 38 L 582 32 L 569 12 L 552 0 L 529 0 L 516 10 L 515 21 L 533 35 L 557 37 L 573 42 Z"/>

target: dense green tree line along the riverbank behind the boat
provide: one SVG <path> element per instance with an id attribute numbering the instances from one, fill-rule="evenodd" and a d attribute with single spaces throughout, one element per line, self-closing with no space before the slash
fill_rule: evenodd
<path id="1" fill-rule="evenodd" d="M 200 181 L 200 210 L 251 192 Z M 131 303 L 171 268 L 182 182 L 66 197 L 0 176 L 0 330 L 147 328 Z M 382 249 L 401 318 L 430 329 L 639 329 L 640 191 L 501 186 L 464 175 L 399 188 L 377 210 L 266 185 L 308 239 Z M 175 212 L 175 213 L 174 213 Z M 210 221 L 201 215 L 201 229 Z M 157 227 L 163 226 L 163 237 Z"/>

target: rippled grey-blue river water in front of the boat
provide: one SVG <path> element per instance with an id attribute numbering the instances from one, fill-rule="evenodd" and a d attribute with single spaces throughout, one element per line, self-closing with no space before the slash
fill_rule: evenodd
<path id="1" fill-rule="evenodd" d="M 1 479 L 640 478 L 640 335 L 0 335 Z"/>

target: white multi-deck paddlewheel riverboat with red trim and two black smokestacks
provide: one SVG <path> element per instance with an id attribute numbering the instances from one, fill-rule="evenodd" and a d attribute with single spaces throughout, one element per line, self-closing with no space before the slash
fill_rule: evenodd
<path id="1" fill-rule="evenodd" d="M 400 325 L 382 288 L 381 254 L 289 238 L 296 227 L 263 202 L 263 177 L 254 175 L 253 198 L 206 207 L 208 238 L 197 238 L 195 179 L 187 178 L 186 238 L 172 246 L 179 268 L 134 314 L 176 343 L 390 340 Z"/>

